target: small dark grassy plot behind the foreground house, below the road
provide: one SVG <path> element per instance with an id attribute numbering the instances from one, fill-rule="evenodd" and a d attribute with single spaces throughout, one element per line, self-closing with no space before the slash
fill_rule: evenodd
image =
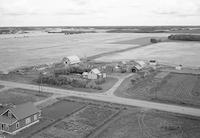
<path id="1" fill-rule="evenodd" d="M 51 95 L 50 93 L 14 88 L 0 92 L 0 103 L 22 104 L 25 102 L 38 102 Z"/>

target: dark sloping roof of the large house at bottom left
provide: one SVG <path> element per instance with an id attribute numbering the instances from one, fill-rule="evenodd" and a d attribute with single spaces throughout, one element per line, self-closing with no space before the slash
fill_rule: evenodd
<path id="1" fill-rule="evenodd" d="M 9 109 L 12 111 L 12 113 L 16 116 L 18 120 L 24 119 L 26 117 L 40 112 L 40 110 L 37 109 L 35 105 L 31 102 L 15 105 Z"/>

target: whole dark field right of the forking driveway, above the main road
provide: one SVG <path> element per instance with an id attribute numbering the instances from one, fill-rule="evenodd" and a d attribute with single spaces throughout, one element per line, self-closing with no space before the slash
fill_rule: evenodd
<path id="1" fill-rule="evenodd" d="M 126 98 L 200 107 L 200 76 L 179 73 L 152 73 L 132 84 L 127 78 L 115 95 Z"/>

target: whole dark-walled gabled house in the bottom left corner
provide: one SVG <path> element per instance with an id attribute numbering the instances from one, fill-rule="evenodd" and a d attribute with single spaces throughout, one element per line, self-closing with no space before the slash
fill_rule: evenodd
<path id="1" fill-rule="evenodd" d="M 41 111 L 33 103 L 0 108 L 0 132 L 15 135 L 39 122 Z"/>

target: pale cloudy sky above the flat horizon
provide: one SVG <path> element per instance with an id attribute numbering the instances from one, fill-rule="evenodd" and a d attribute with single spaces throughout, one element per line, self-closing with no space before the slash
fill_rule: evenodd
<path id="1" fill-rule="evenodd" d="M 0 26 L 200 25 L 200 0 L 0 0 Z"/>

